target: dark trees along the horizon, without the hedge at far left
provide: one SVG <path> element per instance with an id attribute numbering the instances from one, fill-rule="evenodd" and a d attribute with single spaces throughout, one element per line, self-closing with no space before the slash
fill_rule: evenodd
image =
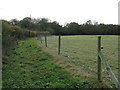
<path id="1" fill-rule="evenodd" d="M 60 25 L 58 22 L 51 22 L 46 18 L 30 18 L 25 17 L 23 20 L 12 19 L 9 21 L 12 25 L 20 26 L 24 29 L 33 29 L 36 31 L 49 31 L 54 35 L 118 35 L 118 27 L 120 25 L 113 24 L 98 24 L 88 20 L 84 24 L 76 22 L 67 23 L 65 26 Z"/>

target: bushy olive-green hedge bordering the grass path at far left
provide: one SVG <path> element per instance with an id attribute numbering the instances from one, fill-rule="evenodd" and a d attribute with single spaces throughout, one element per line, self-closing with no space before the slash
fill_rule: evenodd
<path id="1" fill-rule="evenodd" d="M 19 26 L 13 26 L 6 21 L 2 21 L 2 51 L 7 52 L 13 43 L 19 39 L 35 37 L 36 35 L 36 31 L 24 30 Z"/>

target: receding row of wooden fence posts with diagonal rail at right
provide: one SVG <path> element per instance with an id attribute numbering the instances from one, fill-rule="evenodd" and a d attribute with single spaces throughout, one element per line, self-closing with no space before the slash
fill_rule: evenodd
<path id="1" fill-rule="evenodd" d="M 41 43 L 42 43 L 42 37 L 40 36 Z M 47 36 L 45 34 L 45 46 L 47 47 Z M 58 54 L 60 54 L 60 48 L 61 48 L 61 35 L 58 36 Z M 115 86 L 120 89 L 120 82 L 116 78 L 115 74 L 113 73 L 111 67 L 109 66 L 107 60 L 104 58 L 101 49 L 101 36 L 98 37 L 98 80 L 102 81 L 101 79 L 101 60 L 103 61 L 107 71 L 109 72 L 109 75 L 111 76 L 112 80 L 115 83 Z"/>

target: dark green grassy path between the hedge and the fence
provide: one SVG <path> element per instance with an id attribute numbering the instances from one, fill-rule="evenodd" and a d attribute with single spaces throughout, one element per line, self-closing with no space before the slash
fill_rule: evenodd
<path id="1" fill-rule="evenodd" d="M 44 52 L 35 38 L 20 40 L 3 58 L 2 88 L 89 88 Z"/>

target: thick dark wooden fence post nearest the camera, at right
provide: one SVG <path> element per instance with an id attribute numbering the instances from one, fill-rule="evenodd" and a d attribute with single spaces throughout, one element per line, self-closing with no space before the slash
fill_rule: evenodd
<path id="1" fill-rule="evenodd" d="M 101 52 L 101 36 L 98 37 L 98 54 Z M 98 81 L 101 80 L 101 59 L 98 55 Z"/>

